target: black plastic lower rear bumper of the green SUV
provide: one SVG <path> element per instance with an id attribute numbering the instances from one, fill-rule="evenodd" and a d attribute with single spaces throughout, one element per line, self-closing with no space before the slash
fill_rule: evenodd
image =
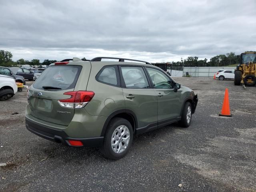
<path id="1" fill-rule="evenodd" d="M 81 141 L 83 143 L 83 146 L 85 147 L 99 147 L 103 145 L 104 140 L 104 137 L 71 138 L 63 130 L 57 130 L 36 124 L 35 122 L 30 121 L 28 118 L 26 118 L 26 128 L 30 132 L 42 138 L 58 143 L 61 142 L 62 144 L 67 146 L 71 146 L 68 140 L 76 140 Z"/>

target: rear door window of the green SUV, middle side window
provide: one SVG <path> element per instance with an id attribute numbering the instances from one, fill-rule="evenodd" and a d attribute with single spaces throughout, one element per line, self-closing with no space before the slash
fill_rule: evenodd
<path id="1" fill-rule="evenodd" d="M 146 74 L 142 67 L 121 66 L 124 83 L 128 89 L 149 88 Z"/>

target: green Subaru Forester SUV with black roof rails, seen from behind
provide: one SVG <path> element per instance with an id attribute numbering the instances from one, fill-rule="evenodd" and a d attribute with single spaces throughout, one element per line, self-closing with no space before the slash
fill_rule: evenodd
<path id="1" fill-rule="evenodd" d="M 102 60 L 116 61 L 102 61 Z M 124 157 L 134 134 L 179 122 L 188 127 L 197 95 L 140 60 L 73 58 L 51 64 L 28 90 L 26 128 L 68 146 Z"/>

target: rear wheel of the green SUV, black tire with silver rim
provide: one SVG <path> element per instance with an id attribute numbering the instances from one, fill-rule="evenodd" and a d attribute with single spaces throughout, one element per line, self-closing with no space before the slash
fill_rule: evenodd
<path id="1" fill-rule="evenodd" d="M 107 126 L 100 153 L 111 160 L 123 158 L 128 153 L 132 140 L 133 128 L 130 122 L 124 118 L 113 118 Z"/>

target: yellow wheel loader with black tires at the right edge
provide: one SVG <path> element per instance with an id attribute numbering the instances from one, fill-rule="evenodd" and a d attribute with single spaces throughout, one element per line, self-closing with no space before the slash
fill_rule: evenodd
<path id="1" fill-rule="evenodd" d="M 255 86 L 256 84 L 256 52 L 244 52 L 240 55 L 240 64 L 236 66 L 234 84 Z"/>

